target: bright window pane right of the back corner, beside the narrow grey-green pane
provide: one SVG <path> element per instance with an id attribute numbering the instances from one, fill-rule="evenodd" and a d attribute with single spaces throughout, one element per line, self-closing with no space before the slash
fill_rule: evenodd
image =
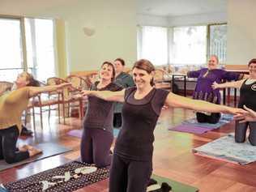
<path id="1" fill-rule="evenodd" d="M 171 63 L 203 65 L 207 60 L 207 26 L 173 28 Z"/>

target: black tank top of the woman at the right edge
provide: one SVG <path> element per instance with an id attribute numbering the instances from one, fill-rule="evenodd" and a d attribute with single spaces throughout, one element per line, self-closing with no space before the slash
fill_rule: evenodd
<path id="1" fill-rule="evenodd" d="M 246 79 L 240 88 L 240 100 L 238 107 L 243 108 L 246 105 L 250 109 L 256 110 L 256 81 L 254 83 L 245 84 Z"/>

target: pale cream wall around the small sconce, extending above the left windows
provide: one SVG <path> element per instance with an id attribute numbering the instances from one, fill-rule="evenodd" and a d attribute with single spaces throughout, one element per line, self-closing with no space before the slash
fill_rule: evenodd
<path id="1" fill-rule="evenodd" d="M 137 58 L 135 0 L 3 0 L 0 5 L 2 15 L 64 20 L 65 28 L 58 29 L 65 32 L 58 31 L 58 34 L 62 34 L 62 40 L 66 36 L 66 42 L 61 45 L 57 40 L 57 48 L 62 56 L 66 52 L 66 58 L 58 55 L 58 61 L 66 60 L 68 72 L 99 69 L 102 62 L 119 57 L 131 66 Z M 86 36 L 84 27 L 95 29 L 95 34 Z M 62 63 L 59 68 L 66 67 Z M 59 69 L 61 75 L 65 71 Z"/>

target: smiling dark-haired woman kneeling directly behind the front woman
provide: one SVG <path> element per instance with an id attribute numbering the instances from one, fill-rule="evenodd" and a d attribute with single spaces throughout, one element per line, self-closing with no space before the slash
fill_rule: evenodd
<path id="1" fill-rule="evenodd" d="M 92 91 L 120 91 L 122 87 L 113 83 L 113 64 L 104 62 L 100 68 L 100 81 L 94 83 Z M 96 96 L 88 96 L 86 117 L 83 122 L 81 160 L 96 167 L 108 166 L 112 160 L 109 154 L 113 143 L 113 102 Z"/>

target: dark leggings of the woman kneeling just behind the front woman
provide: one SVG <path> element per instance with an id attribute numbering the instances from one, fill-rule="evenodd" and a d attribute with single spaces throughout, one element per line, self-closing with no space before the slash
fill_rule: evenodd
<path id="1" fill-rule="evenodd" d="M 86 127 L 81 140 L 81 160 L 87 164 L 96 164 L 98 168 L 110 165 L 112 142 L 113 134 L 109 131 Z"/>

